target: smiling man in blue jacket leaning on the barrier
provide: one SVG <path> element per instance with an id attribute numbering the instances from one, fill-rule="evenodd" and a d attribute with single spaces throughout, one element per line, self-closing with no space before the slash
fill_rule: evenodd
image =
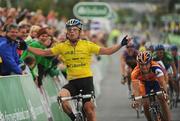
<path id="1" fill-rule="evenodd" d="M 0 56 L 3 61 L 2 75 L 22 74 L 22 70 L 19 67 L 19 56 L 16 51 L 17 26 L 14 24 L 6 25 L 3 31 L 5 36 L 0 37 Z"/>

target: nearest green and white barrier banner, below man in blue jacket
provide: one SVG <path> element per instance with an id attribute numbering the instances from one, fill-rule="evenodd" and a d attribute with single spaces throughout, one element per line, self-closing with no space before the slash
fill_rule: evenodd
<path id="1" fill-rule="evenodd" d="M 0 77 L 0 121 L 48 121 L 30 75 Z"/>

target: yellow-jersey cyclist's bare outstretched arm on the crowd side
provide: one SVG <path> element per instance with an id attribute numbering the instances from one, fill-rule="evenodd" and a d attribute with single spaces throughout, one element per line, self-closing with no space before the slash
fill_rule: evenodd
<path id="1" fill-rule="evenodd" d="M 28 47 L 28 51 L 40 56 L 53 56 L 53 53 L 50 49 L 43 50 L 39 48 Z"/>

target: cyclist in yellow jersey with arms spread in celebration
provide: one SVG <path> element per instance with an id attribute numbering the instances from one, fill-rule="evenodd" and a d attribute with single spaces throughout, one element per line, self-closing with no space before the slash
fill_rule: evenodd
<path id="1" fill-rule="evenodd" d="M 125 36 L 120 44 L 112 47 L 100 47 L 95 43 L 80 39 L 82 23 L 78 19 L 70 19 L 66 23 L 66 38 L 63 43 L 59 43 L 54 47 L 42 50 L 27 47 L 26 43 L 20 43 L 24 49 L 41 56 L 61 55 L 67 66 L 67 78 L 69 83 L 65 85 L 59 92 L 59 96 L 73 96 L 79 94 L 79 90 L 83 90 L 82 94 L 90 94 L 94 91 L 92 71 L 90 69 L 92 54 L 111 55 L 118 51 L 122 46 L 127 45 L 130 38 Z M 95 107 L 91 99 L 84 100 L 84 111 L 88 121 L 96 121 Z M 63 110 L 75 121 L 75 115 L 67 101 L 62 102 Z"/>

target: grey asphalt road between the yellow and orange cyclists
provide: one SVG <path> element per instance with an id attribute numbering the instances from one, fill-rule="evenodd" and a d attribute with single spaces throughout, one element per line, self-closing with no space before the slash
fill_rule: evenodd
<path id="1" fill-rule="evenodd" d="M 136 118 L 130 107 L 127 85 L 120 83 L 119 55 L 111 56 L 107 75 L 101 83 L 101 95 L 97 99 L 97 121 L 146 121 L 143 114 Z M 180 104 L 171 110 L 173 121 L 180 121 Z"/>

